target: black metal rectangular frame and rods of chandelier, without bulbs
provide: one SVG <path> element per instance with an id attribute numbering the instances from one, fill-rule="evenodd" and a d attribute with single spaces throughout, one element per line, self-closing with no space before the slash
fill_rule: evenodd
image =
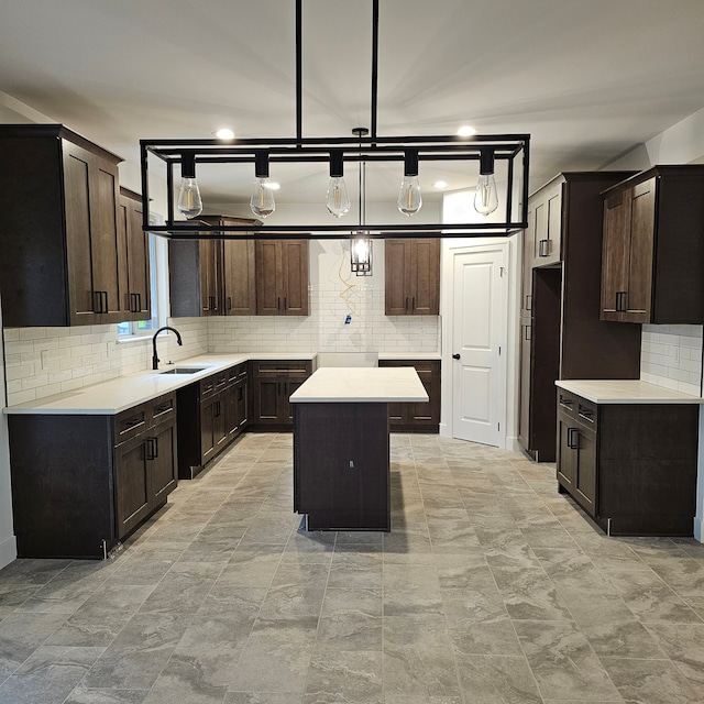
<path id="1" fill-rule="evenodd" d="M 355 226 L 332 223 L 311 226 L 212 226 L 195 220 L 174 220 L 174 167 L 195 164 L 255 164 L 262 152 L 272 164 L 329 164 L 331 152 L 341 151 L 349 162 L 398 162 L 399 178 L 408 150 L 419 162 L 462 161 L 469 170 L 480 170 L 480 162 L 492 153 L 496 163 L 506 162 L 504 219 L 472 223 L 367 223 L 370 239 L 416 235 L 427 238 L 509 235 L 527 227 L 529 134 L 476 134 L 473 136 L 378 136 L 376 134 L 378 75 L 378 0 L 372 0 L 372 114 L 369 135 L 356 138 L 302 136 L 302 0 L 296 0 L 296 136 L 292 139 L 141 140 L 143 228 L 169 239 L 336 239 L 350 237 Z M 167 216 L 163 226 L 148 223 L 148 156 L 164 162 L 167 185 Z M 484 157 L 482 156 L 484 155 Z M 254 172 L 253 172 L 254 173 Z M 400 182 L 399 182 L 400 183 Z M 515 183 L 519 186 L 516 188 Z"/>

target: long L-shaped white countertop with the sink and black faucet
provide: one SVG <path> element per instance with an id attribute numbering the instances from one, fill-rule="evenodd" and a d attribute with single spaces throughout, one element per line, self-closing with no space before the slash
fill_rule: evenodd
<path id="1" fill-rule="evenodd" d="M 160 364 L 158 371 L 144 371 L 92 384 L 64 394 L 9 406 L 6 414 L 54 414 L 110 416 L 193 384 L 217 372 L 249 360 L 314 360 L 316 353 L 202 354 L 174 364 Z M 202 366 L 195 374 L 162 374 L 174 366 Z"/>

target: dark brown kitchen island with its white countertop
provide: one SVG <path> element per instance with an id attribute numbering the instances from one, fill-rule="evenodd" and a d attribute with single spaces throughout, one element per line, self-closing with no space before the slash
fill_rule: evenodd
<path id="1" fill-rule="evenodd" d="M 289 400 L 307 529 L 391 530 L 388 404 L 428 400 L 416 370 L 322 367 Z"/>

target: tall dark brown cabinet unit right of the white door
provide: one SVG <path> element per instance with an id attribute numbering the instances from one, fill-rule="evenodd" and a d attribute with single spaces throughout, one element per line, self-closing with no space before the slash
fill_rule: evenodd
<path id="1" fill-rule="evenodd" d="M 564 173 L 529 200 L 518 441 L 537 461 L 556 459 L 557 380 L 638 378 L 640 374 L 640 330 L 600 320 L 600 194 L 630 175 Z"/>

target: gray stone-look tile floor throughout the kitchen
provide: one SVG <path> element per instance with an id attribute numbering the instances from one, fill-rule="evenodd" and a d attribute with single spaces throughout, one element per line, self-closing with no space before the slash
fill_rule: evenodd
<path id="1" fill-rule="evenodd" d="M 2 704 L 704 701 L 704 546 L 607 538 L 554 468 L 392 438 L 392 532 L 305 534 L 243 437 L 106 562 L 0 571 Z"/>

